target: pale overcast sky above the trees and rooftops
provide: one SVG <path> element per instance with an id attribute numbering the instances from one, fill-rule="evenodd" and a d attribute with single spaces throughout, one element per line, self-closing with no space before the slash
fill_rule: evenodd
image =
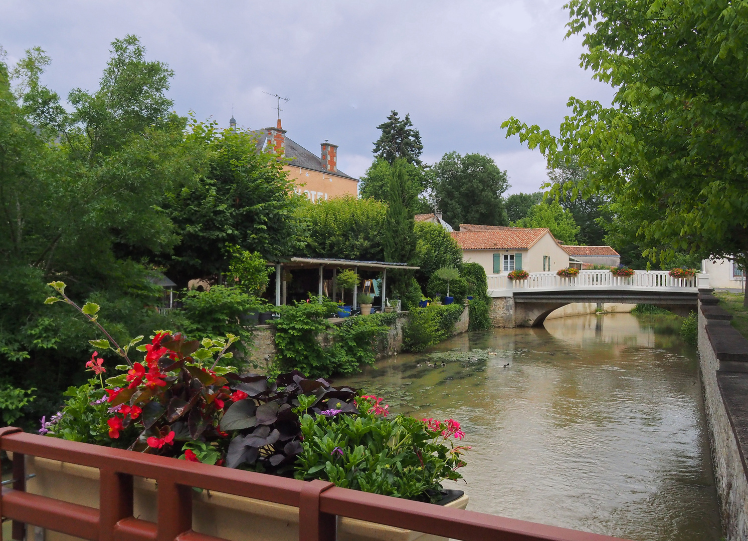
<path id="1" fill-rule="evenodd" d="M 361 176 L 376 126 L 410 113 L 433 163 L 456 150 L 491 155 L 509 193 L 536 191 L 545 160 L 500 124 L 510 116 L 555 132 L 569 96 L 610 103 L 612 90 L 579 67 L 581 39 L 564 40 L 565 0 L 494 1 L 7 1 L 7 61 L 41 46 L 45 83 L 61 96 L 93 90 L 109 43 L 136 34 L 147 58 L 174 69 L 177 112 L 227 126 L 275 125 L 319 155 L 340 146 L 340 170 Z"/>

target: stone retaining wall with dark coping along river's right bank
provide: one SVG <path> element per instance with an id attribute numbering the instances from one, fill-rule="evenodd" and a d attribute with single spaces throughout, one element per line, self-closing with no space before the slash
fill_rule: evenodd
<path id="1" fill-rule="evenodd" d="M 748 539 L 748 340 L 711 294 L 699 295 L 699 363 L 723 536 Z"/>

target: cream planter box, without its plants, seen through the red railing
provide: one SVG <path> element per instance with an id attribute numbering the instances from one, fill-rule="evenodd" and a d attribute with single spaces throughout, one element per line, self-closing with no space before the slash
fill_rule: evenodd
<path id="1" fill-rule="evenodd" d="M 10 453 L 9 453 L 10 455 Z M 220 466 L 215 466 L 216 468 Z M 61 463 L 38 457 L 26 457 L 27 474 L 36 474 L 27 482 L 32 494 L 57 498 L 70 503 L 99 507 L 99 470 L 88 466 Z M 134 516 L 156 522 L 156 482 L 135 477 Z M 446 507 L 465 509 L 468 495 L 462 495 Z M 297 541 L 298 508 L 270 501 L 243 498 L 221 492 L 193 492 L 192 528 L 200 534 L 232 541 Z M 34 528 L 28 528 L 28 539 L 34 539 Z M 79 538 L 44 532 L 46 541 L 70 541 Z M 339 541 L 446 541 L 419 532 L 393 528 L 341 517 L 338 519 Z"/>

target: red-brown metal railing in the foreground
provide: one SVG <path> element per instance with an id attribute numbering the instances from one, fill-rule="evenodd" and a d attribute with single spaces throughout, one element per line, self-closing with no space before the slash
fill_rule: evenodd
<path id="1" fill-rule="evenodd" d="M 298 507 L 299 541 L 334 541 L 337 516 L 463 541 L 616 541 L 616 538 L 505 519 L 474 511 L 310 482 L 174 460 L 150 454 L 0 428 L 0 449 L 13 452 L 13 488 L 3 489 L 0 515 L 13 539 L 31 524 L 91 541 L 224 541 L 192 531 L 192 491 L 215 492 Z M 25 455 L 99 469 L 99 509 L 25 492 Z M 135 519 L 133 477 L 156 480 L 157 522 Z M 2 540 L 0 534 L 0 541 Z"/>

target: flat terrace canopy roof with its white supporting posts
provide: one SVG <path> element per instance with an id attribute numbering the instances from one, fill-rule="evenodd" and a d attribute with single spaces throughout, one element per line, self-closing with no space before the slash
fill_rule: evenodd
<path id="1" fill-rule="evenodd" d="M 337 275 L 338 269 L 353 269 L 358 272 L 359 268 L 365 268 L 371 271 L 381 271 L 381 306 L 384 308 L 385 287 L 387 285 L 387 269 L 401 269 L 417 271 L 420 267 L 411 267 L 407 263 L 392 263 L 381 261 L 358 261 L 355 259 L 331 259 L 331 258 L 307 258 L 292 257 L 283 261 L 273 262 L 275 265 L 275 306 L 281 306 L 286 297 L 286 281 L 283 279 L 283 271 L 292 271 L 293 269 L 310 269 L 319 268 L 319 302 L 322 302 L 322 285 L 325 268 L 331 268 L 333 271 L 333 282 Z M 358 286 L 353 290 L 353 308 L 356 308 L 356 295 Z"/>

